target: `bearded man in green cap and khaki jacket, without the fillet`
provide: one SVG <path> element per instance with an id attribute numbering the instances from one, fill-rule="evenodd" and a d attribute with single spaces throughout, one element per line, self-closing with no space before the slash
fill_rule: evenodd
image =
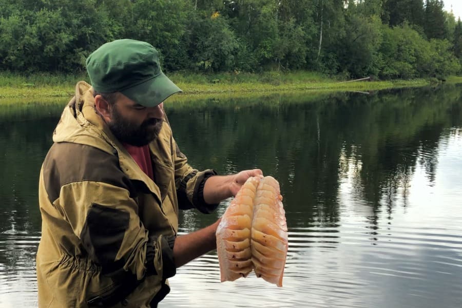
<path id="1" fill-rule="evenodd" d="M 40 174 L 38 305 L 155 307 L 177 267 L 216 248 L 219 221 L 178 236 L 179 209 L 211 213 L 262 172 L 187 164 L 163 110 L 181 90 L 150 44 L 107 43 L 86 65 Z"/>

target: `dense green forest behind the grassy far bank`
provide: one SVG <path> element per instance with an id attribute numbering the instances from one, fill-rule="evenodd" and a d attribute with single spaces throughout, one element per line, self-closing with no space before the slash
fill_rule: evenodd
<path id="1" fill-rule="evenodd" d="M 118 38 L 165 71 L 311 70 L 343 78 L 461 71 L 462 22 L 440 0 L 0 0 L 0 70 L 84 70 Z"/>

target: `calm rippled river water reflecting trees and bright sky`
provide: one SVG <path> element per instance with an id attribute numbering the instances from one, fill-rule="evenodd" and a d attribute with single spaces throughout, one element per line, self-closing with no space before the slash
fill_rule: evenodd
<path id="1" fill-rule="evenodd" d="M 65 104 L 0 104 L 0 307 L 37 305 L 37 178 Z M 220 283 L 212 252 L 178 270 L 161 307 L 462 306 L 462 86 L 166 109 L 195 167 L 279 180 L 289 251 L 282 288 Z M 183 212 L 181 232 L 229 201 Z"/>

